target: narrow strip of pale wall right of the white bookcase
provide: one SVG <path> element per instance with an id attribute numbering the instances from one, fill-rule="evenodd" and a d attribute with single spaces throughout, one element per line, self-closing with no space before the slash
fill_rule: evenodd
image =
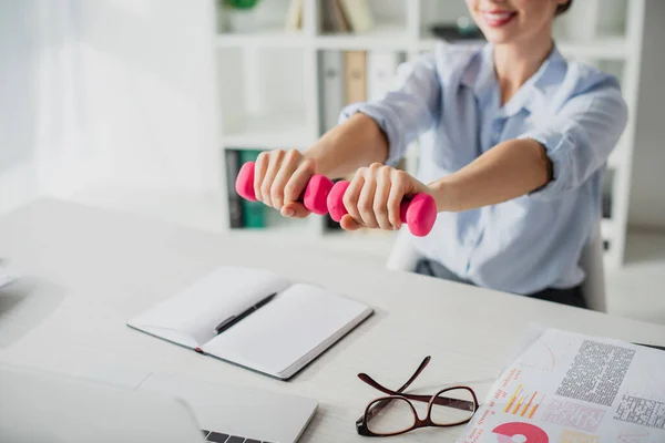
<path id="1" fill-rule="evenodd" d="M 630 224 L 665 229 L 665 1 L 646 0 Z"/>

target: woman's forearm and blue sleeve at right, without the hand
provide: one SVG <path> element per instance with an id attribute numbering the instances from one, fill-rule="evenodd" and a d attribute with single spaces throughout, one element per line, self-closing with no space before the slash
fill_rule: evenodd
<path id="1" fill-rule="evenodd" d="M 495 205 L 522 195 L 556 198 L 581 186 L 610 156 L 627 121 L 618 85 L 569 100 L 552 123 L 502 142 L 429 184 L 439 210 Z"/>

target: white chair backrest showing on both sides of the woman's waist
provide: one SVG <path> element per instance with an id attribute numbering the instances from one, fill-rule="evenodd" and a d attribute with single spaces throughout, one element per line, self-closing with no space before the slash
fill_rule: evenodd
<path id="1" fill-rule="evenodd" d="M 413 271 L 416 264 L 422 256 L 413 247 L 410 235 L 406 229 L 400 229 L 390 250 L 386 267 L 390 270 Z M 596 223 L 591 241 L 582 250 L 580 266 L 585 278 L 582 284 L 582 295 L 589 309 L 607 312 L 605 295 L 605 271 L 603 268 L 603 238 L 601 236 L 601 222 Z"/>

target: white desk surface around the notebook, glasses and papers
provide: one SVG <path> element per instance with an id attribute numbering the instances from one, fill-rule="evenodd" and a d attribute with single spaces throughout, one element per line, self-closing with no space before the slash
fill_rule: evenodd
<path id="1" fill-rule="evenodd" d="M 483 396 L 530 322 L 624 340 L 665 342 L 665 327 L 437 280 L 252 234 L 213 235 L 60 200 L 0 218 L 0 254 L 24 279 L 0 297 L 0 362 L 82 374 L 123 364 L 317 399 L 303 441 L 367 441 L 354 423 L 424 356 L 423 392 L 456 382 Z M 311 281 L 375 308 L 375 316 L 289 382 L 156 340 L 125 320 L 221 265 L 256 266 Z M 21 292 L 23 291 L 23 292 Z M 454 441 L 461 427 L 390 441 Z"/>

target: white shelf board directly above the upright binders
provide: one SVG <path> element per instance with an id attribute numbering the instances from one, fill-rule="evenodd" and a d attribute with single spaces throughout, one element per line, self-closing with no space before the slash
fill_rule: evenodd
<path id="1" fill-rule="evenodd" d="M 367 32 L 330 33 L 315 38 L 315 45 L 326 50 L 376 50 L 407 51 L 409 39 L 403 24 L 381 23 Z"/>

